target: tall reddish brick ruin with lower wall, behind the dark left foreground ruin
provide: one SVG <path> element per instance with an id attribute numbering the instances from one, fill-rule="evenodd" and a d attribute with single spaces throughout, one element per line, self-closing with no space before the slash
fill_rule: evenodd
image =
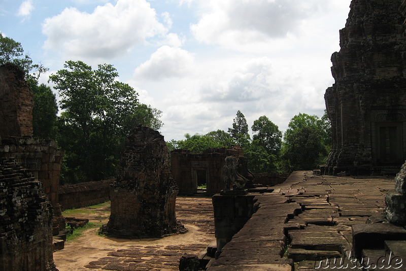
<path id="1" fill-rule="evenodd" d="M 32 93 L 14 64 L 0 66 L 0 157 L 14 158 L 39 180 L 54 208 L 54 234 L 65 222 L 58 204 L 63 152 L 52 140 L 32 138 Z"/>

